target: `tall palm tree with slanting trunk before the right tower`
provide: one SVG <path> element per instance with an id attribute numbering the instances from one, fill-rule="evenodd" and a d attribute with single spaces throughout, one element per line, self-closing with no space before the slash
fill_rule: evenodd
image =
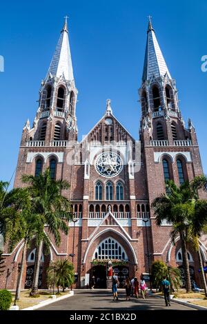
<path id="1" fill-rule="evenodd" d="M 168 194 L 161 194 L 152 202 L 152 207 L 155 210 L 157 225 L 161 225 L 164 220 L 172 224 L 172 232 L 170 233 L 172 242 L 175 243 L 175 238 L 179 234 L 186 292 L 190 292 L 191 283 L 186 242 L 189 240 L 189 216 L 193 210 L 194 192 L 191 190 L 189 183 L 177 187 L 172 180 L 166 182 L 166 192 Z"/>

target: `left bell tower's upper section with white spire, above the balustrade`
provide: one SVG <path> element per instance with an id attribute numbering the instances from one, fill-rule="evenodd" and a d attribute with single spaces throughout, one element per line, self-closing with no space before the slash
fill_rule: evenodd
<path id="1" fill-rule="evenodd" d="M 39 108 L 32 129 L 24 136 L 26 141 L 42 141 L 44 145 L 54 145 L 61 140 L 77 141 L 78 91 L 72 70 L 67 19 L 46 78 L 41 81 Z"/>

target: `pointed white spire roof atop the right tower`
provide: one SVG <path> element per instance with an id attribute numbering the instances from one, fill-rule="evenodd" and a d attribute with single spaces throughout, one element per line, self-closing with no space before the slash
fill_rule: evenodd
<path id="1" fill-rule="evenodd" d="M 155 30 L 152 28 L 151 21 L 149 21 L 142 81 L 144 82 L 149 80 L 152 75 L 155 75 L 155 77 L 161 77 L 166 73 L 168 74 L 168 77 L 172 79 L 159 47 L 159 43 L 157 42 Z"/>

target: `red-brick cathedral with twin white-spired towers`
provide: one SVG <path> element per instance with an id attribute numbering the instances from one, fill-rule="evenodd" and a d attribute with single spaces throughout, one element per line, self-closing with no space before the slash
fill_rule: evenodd
<path id="1" fill-rule="evenodd" d="M 23 174 L 38 175 L 50 168 L 53 179 L 65 179 L 70 188 L 63 192 L 74 218 L 61 244 L 50 237 L 50 253 L 41 255 L 39 287 L 46 288 L 50 262 L 69 259 L 75 267 L 76 287 L 86 287 L 95 276 L 97 287 L 106 288 L 108 265 L 119 276 L 144 276 L 149 281 L 155 260 L 182 269 L 179 238 L 170 240 L 172 226 L 155 223 L 152 201 L 166 190 L 165 181 L 177 185 L 203 173 L 195 127 L 186 127 L 179 109 L 178 91 L 148 22 L 144 68 L 139 88 L 139 134 L 134 139 L 127 125 L 115 117 L 110 99 L 103 115 L 81 141 L 77 140 L 76 103 L 78 90 L 72 69 L 67 19 L 52 57 L 46 78 L 41 82 L 39 107 L 34 122 L 23 128 L 14 188 L 23 186 Z M 137 107 L 137 110 L 139 107 Z M 47 232 L 47 225 L 46 232 Z M 207 262 L 207 236 L 199 241 Z M 23 242 L 6 256 L 1 285 L 14 289 Z M 22 288 L 30 288 L 36 248 L 26 255 Z M 190 276 L 199 281 L 199 262 L 188 247 Z M 149 284 L 149 283 L 148 283 Z"/>

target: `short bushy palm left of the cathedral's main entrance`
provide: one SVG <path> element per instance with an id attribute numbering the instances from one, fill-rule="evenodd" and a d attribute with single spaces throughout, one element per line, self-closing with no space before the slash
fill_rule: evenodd
<path id="1" fill-rule="evenodd" d="M 50 285 L 57 286 L 57 292 L 59 293 L 59 286 L 70 287 L 74 283 L 74 267 L 67 259 L 57 260 L 55 263 L 48 267 L 48 283 Z"/>

